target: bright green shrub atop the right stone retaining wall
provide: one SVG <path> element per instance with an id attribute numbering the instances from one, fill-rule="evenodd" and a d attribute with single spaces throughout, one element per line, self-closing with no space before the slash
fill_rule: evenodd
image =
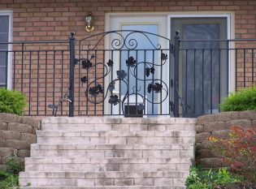
<path id="1" fill-rule="evenodd" d="M 225 97 L 220 104 L 220 110 L 222 112 L 256 110 L 256 87 L 244 88 Z"/>

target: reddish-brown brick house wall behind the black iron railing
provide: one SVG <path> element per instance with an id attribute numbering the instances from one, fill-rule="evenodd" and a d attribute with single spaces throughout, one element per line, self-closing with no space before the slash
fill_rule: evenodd
<path id="1" fill-rule="evenodd" d="M 86 32 L 85 31 L 85 15 L 89 9 L 93 12 L 95 17 L 95 31 Z M 189 11 L 233 11 L 235 13 L 235 36 L 236 38 L 256 38 L 256 2 L 253 0 L 240 0 L 240 1 L 134 1 L 134 0 L 1 0 L 0 1 L 0 11 L 1 10 L 13 10 L 13 40 L 14 41 L 42 41 L 42 40 L 67 40 L 71 31 L 76 32 L 76 40 L 80 40 L 84 37 L 88 37 L 91 34 L 98 32 L 104 32 L 105 28 L 105 14 L 106 12 L 126 12 L 126 11 L 136 11 L 136 12 L 175 12 L 184 11 L 188 13 Z M 97 41 L 95 38 L 93 41 Z M 91 41 L 93 43 L 93 41 Z M 102 44 L 101 44 L 102 45 Z M 236 47 L 256 47 L 255 43 L 236 43 Z M 18 48 L 18 47 L 17 47 Z M 57 50 L 57 49 L 67 49 L 67 45 L 31 45 L 27 47 L 28 49 L 46 49 L 46 50 Z M 76 48 L 77 49 L 77 48 Z M 238 52 L 238 64 L 237 64 L 237 80 L 239 81 L 239 86 L 242 86 L 244 79 L 244 66 L 243 66 L 243 51 Z M 18 53 L 17 53 L 18 54 Z M 49 52 L 49 54 L 53 54 Z M 57 58 L 56 64 L 61 64 L 61 53 L 57 52 L 59 58 Z M 251 77 L 251 50 L 246 51 L 246 62 L 245 66 L 246 81 L 247 84 L 252 84 Z M 21 53 L 18 54 L 21 56 Z M 24 54 L 26 58 L 29 58 L 29 52 Z M 37 54 L 32 54 L 33 62 L 32 64 L 37 65 Z M 59 94 L 53 97 L 53 79 L 55 75 L 56 82 L 62 80 L 61 69 L 59 71 L 53 70 L 54 59 L 47 58 L 45 54 L 40 54 L 41 70 L 46 69 L 46 62 L 48 63 L 48 68 L 50 71 L 47 73 L 41 71 L 40 75 L 40 88 L 39 95 L 40 107 L 37 109 L 37 88 L 34 87 L 30 97 L 30 103 L 33 105 L 32 112 L 39 111 L 41 114 L 51 114 L 51 110 L 45 108 L 45 105 L 53 103 L 53 101 L 59 101 L 61 93 L 65 91 L 68 87 L 68 54 L 64 54 L 64 74 L 63 74 L 63 89 L 59 88 Z M 22 62 L 16 62 L 16 64 L 21 64 Z M 29 82 L 29 62 L 24 62 L 27 71 L 24 71 L 24 92 L 28 96 L 28 82 Z M 17 67 L 16 71 L 20 67 Z M 37 83 L 37 66 L 32 67 L 32 83 Z M 102 69 L 99 69 L 102 70 Z M 18 90 L 21 89 L 21 71 L 15 72 L 15 83 Z M 46 75 L 48 75 L 46 82 Z M 89 76 L 93 75 L 91 73 Z M 45 86 L 48 90 L 45 92 Z M 85 98 L 83 90 L 76 88 L 76 97 L 80 93 L 80 97 Z M 47 99 L 46 99 L 47 93 Z M 78 103 L 78 102 L 76 102 Z M 80 101 L 82 105 L 85 105 L 85 100 Z M 63 114 L 67 114 L 67 103 L 64 105 Z M 94 110 L 93 105 L 91 105 L 90 110 Z M 97 111 L 102 112 L 102 107 L 98 106 Z"/>

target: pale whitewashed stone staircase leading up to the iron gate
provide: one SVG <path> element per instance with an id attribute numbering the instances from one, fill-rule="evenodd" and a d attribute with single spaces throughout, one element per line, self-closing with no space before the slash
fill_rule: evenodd
<path id="1" fill-rule="evenodd" d="M 193 118 L 44 118 L 20 173 L 24 188 L 183 189 Z"/>

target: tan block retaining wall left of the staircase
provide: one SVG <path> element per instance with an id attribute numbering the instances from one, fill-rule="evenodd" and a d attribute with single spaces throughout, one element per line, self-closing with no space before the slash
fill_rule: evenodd
<path id="1" fill-rule="evenodd" d="M 39 121 L 15 114 L 0 113 L 0 170 L 6 168 L 7 157 L 15 153 L 21 165 L 30 156 L 30 144 L 36 143 Z"/>

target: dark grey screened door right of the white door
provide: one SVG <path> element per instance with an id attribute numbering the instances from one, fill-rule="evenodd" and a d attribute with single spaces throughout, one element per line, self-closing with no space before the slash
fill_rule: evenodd
<path id="1" fill-rule="evenodd" d="M 180 94 L 183 117 L 219 112 L 228 94 L 227 17 L 171 18 L 171 33 L 180 30 Z M 192 41 L 186 41 L 192 40 Z M 199 41 L 193 41 L 199 40 Z M 200 41 L 201 40 L 201 41 Z"/>

